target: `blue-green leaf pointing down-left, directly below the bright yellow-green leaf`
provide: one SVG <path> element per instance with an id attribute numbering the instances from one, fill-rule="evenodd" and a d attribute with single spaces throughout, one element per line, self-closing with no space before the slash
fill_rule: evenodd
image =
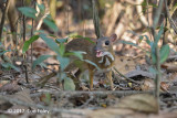
<path id="1" fill-rule="evenodd" d="M 38 57 L 33 64 L 32 64 L 32 69 L 34 69 L 34 67 L 39 64 L 41 64 L 44 60 L 52 57 L 51 55 L 41 55 L 40 57 Z"/>

